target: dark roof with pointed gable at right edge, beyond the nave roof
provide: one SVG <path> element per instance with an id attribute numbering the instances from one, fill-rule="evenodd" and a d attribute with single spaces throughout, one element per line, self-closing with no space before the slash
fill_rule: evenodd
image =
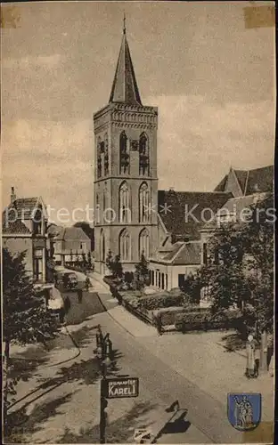
<path id="1" fill-rule="evenodd" d="M 231 168 L 241 187 L 243 195 L 251 195 L 258 191 L 270 191 L 273 189 L 274 166 L 264 166 L 253 170 L 236 170 Z M 225 191 L 228 174 L 219 182 L 215 191 Z"/>

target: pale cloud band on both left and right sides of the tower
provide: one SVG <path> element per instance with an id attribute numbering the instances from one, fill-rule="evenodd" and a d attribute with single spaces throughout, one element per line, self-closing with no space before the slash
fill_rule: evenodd
<path id="1" fill-rule="evenodd" d="M 274 103 L 209 103 L 204 96 L 156 96 L 159 107 L 159 188 L 213 190 L 229 167 L 274 161 Z M 94 200 L 94 130 L 90 119 L 20 119 L 3 127 L 4 203 L 42 195 L 55 208 Z"/>

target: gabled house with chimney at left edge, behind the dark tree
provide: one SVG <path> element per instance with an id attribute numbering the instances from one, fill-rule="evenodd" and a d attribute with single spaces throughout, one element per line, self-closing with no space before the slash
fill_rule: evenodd
<path id="1" fill-rule="evenodd" d="M 17 198 L 3 212 L 2 243 L 12 255 L 26 252 L 26 271 L 35 283 L 47 280 L 47 213 L 41 197 Z"/>

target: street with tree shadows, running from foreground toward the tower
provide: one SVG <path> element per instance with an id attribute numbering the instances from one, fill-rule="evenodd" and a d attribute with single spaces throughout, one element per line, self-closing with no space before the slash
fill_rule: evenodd
<path id="1" fill-rule="evenodd" d="M 178 344 L 178 339 L 183 339 L 184 336 L 158 337 L 155 330 L 151 331 L 148 326 L 143 326 L 142 336 L 136 337 L 119 320 L 113 318 L 113 313 L 118 308 L 124 311 L 127 320 L 130 315 L 117 306 L 117 302 L 102 284 L 94 281 L 92 290 L 95 292 L 84 293 L 81 303 L 78 302 L 76 292 L 63 293 L 63 297 L 70 297 L 70 311 L 66 316 L 67 330 L 78 344 L 79 353 L 67 364 L 38 367 L 29 380 L 29 391 L 42 383 L 47 388 L 46 391 L 39 392 L 35 399 L 27 397 L 24 401 L 23 407 L 29 414 L 24 434 L 29 443 L 99 442 L 100 374 L 94 357 L 95 327 L 98 324 L 101 324 L 104 334 L 110 333 L 116 359 L 116 366 L 109 371 L 108 376 L 139 378 L 137 398 L 109 401 L 107 442 L 132 442 L 135 429 L 138 428 L 147 428 L 151 433 L 158 433 L 172 416 L 172 413 L 166 413 L 165 410 L 174 401 L 178 401 L 180 409 L 186 410 L 187 414 L 184 418 L 177 419 L 175 425 L 169 424 L 164 429 L 159 435 L 159 443 L 247 441 L 246 433 L 244 435 L 236 431 L 229 424 L 225 401 L 219 398 L 218 393 L 215 396 L 211 391 L 208 393 L 206 386 L 198 378 L 195 381 L 193 378 L 186 378 L 175 369 L 176 363 L 166 360 L 170 356 L 168 339 L 172 338 Z M 114 309 L 105 312 L 96 291 L 106 292 L 103 301 Z M 129 322 L 135 324 L 135 320 L 130 320 Z M 163 349 L 161 342 L 164 342 L 166 349 Z M 157 351 L 155 344 L 159 348 Z M 173 346 L 170 347 L 173 350 Z M 60 361 L 67 361 L 69 348 L 61 345 Z M 178 348 L 177 351 L 183 354 L 183 347 Z M 59 353 L 59 345 L 57 352 Z M 173 360 L 176 360 L 174 356 Z M 54 362 L 57 363 L 57 359 Z M 192 363 L 192 359 L 185 360 L 185 368 L 190 372 Z M 203 378 L 209 379 L 206 368 L 203 368 L 203 373 Z M 25 387 L 24 383 L 20 384 L 18 398 L 20 391 L 23 395 L 26 394 L 26 384 Z M 251 438 L 249 441 L 252 441 Z"/>

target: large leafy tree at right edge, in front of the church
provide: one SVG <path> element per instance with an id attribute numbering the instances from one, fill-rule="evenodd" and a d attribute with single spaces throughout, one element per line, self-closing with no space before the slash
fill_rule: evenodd
<path id="1" fill-rule="evenodd" d="M 274 326 L 273 194 L 250 206 L 244 223 L 225 223 L 208 240 L 208 264 L 200 269 L 202 286 L 209 286 L 211 311 L 237 307 L 247 331 Z"/>

